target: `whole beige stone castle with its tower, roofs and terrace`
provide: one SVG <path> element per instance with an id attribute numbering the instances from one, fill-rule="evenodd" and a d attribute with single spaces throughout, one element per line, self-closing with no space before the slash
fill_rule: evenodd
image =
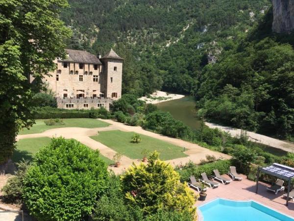
<path id="1" fill-rule="evenodd" d="M 101 58 L 86 51 L 66 49 L 66 59 L 55 59 L 57 68 L 44 83 L 62 109 L 109 110 L 113 100 L 122 96 L 123 58 L 112 49 Z"/>

